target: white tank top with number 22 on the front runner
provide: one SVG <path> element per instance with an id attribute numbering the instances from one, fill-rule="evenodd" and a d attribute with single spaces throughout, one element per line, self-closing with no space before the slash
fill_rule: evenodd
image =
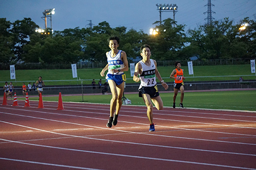
<path id="1" fill-rule="evenodd" d="M 140 75 L 141 85 L 139 89 L 143 87 L 152 87 L 156 85 L 156 65 L 152 59 L 150 59 L 150 66 L 147 66 L 142 60 L 139 62 L 142 66 L 142 73 Z"/>

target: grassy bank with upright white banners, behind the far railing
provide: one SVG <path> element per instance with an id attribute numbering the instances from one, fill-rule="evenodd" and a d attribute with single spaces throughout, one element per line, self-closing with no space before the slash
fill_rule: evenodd
<path id="1" fill-rule="evenodd" d="M 158 71 L 161 73 L 165 82 L 172 82 L 169 76 L 173 67 L 161 66 L 158 67 Z M 188 66 L 183 66 L 184 77 L 186 81 L 211 81 L 211 80 L 238 80 L 239 77 L 206 77 L 206 78 L 192 78 L 192 75 L 188 73 Z M 105 82 L 105 77 L 100 76 L 100 71 L 102 69 L 78 69 L 78 79 L 88 79 L 84 81 L 84 84 L 91 84 L 92 79 L 96 80 L 98 83 L 99 79 L 102 79 L 102 82 Z M 244 77 L 244 79 L 254 79 L 255 75 L 251 73 L 250 64 L 245 65 L 210 65 L 210 66 L 193 66 L 194 76 L 232 76 L 232 75 L 252 75 Z M 107 73 L 107 72 L 106 72 Z M 125 72 L 127 76 L 127 83 L 134 83 L 130 77 L 130 71 Z M 45 85 L 76 85 L 81 84 L 81 81 L 77 81 L 77 78 L 72 78 L 72 70 L 16 70 L 16 80 L 21 82 L 15 82 L 15 80 L 10 80 L 10 71 L 9 70 L 0 70 L 0 82 L 13 82 L 14 86 L 22 86 L 22 82 L 35 82 L 38 80 L 38 77 L 42 76 L 45 81 Z M 58 80 L 58 82 L 47 82 L 48 80 Z M 74 81 L 63 81 L 63 80 L 74 80 Z M 4 86 L 4 83 L 0 83 L 0 86 Z"/>

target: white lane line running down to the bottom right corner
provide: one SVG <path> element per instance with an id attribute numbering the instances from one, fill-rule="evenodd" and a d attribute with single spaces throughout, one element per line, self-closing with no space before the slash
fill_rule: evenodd
<path id="1" fill-rule="evenodd" d="M 149 160 L 161 160 L 161 161 L 179 162 L 179 163 L 186 163 L 186 164 L 207 165 L 207 166 L 217 166 L 217 167 L 237 168 L 237 169 L 253 169 L 253 168 L 228 166 L 228 165 L 207 164 L 207 163 L 203 163 L 203 162 L 192 162 L 192 161 L 183 161 L 183 160 L 174 160 L 174 159 L 161 159 L 161 158 L 152 158 L 152 157 L 132 156 L 132 155 L 128 155 L 128 154 L 116 154 L 116 153 L 86 151 L 86 150 L 78 150 L 78 149 L 68 149 L 68 148 L 65 148 L 65 147 L 55 147 L 55 146 L 47 146 L 47 145 L 30 144 L 30 143 L 10 141 L 10 140 L 6 140 L 6 139 L 1 139 L 1 140 L 8 141 L 8 142 L 13 142 L 13 143 L 19 143 L 19 144 L 32 145 L 32 146 L 48 147 L 48 148 L 52 148 L 52 149 L 61 149 L 61 150 L 68 150 L 68 151 L 95 153 L 95 154 L 103 154 L 103 155 L 108 155 L 108 156 L 110 155 L 110 156 L 117 156 L 117 157 L 129 157 L 129 158 L 140 158 L 140 159 L 149 159 Z"/>

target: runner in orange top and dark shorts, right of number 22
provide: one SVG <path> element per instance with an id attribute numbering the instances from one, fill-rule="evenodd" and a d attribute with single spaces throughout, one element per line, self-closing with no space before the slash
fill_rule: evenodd
<path id="1" fill-rule="evenodd" d="M 178 94 L 178 91 L 181 91 L 181 102 L 179 103 L 179 106 L 184 108 L 183 106 L 183 98 L 184 98 L 184 83 L 183 80 L 185 77 L 183 76 L 183 69 L 181 69 L 181 62 L 175 62 L 175 68 L 170 75 L 170 78 L 174 79 L 174 104 L 172 105 L 173 108 L 175 108 L 175 100 Z"/>

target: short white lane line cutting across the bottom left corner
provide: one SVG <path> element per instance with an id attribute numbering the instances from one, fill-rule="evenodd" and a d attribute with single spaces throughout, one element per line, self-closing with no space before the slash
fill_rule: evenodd
<path id="1" fill-rule="evenodd" d="M 44 162 L 35 162 L 35 161 L 10 159 L 10 158 L 0 158 L 0 159 L 2 159 L 2 160 L 10 160 L 10 161 L 17 161 L 17 162 L 25 162 L 25 163 L 30 163 L 30 164 L 57 166 L 57 167 L 65 167 L 65 168 L 74 168 L 74 169 L 100 170 L 100 169 L 94 169 L 94 168 L 84 168 L 84 167 L 68 166 L 68 165 L 60 165 L 60 164 L 49 164 L 49 163 L 44 163 Z"/>

